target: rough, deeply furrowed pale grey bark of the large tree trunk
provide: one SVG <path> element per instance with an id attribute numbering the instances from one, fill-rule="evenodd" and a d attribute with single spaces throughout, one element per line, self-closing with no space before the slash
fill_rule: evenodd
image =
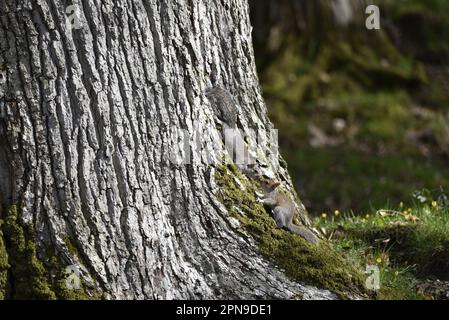
<path id="1" fill-rule="evenodd" d="M 2 215 L 20 208 L 39 257 L 83 265 L 110 298 L 334 297 L 232 229 L 204 152 L 170 161 L 169 128 L 213 127 L 211 85 L 233 92 L 250 139 L 272 127 L 246 1 L 2 0 L 0 16 Z"/>

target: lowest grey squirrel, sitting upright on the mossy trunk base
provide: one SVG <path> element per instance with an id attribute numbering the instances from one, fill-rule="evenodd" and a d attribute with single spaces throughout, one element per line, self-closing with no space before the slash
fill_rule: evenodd
<path id="1" fill-rule="evenodd" d="M 311 243 L 319 243 L 318 237 L 312 231 L 293 224 L 295 204 L 293 200 L 278 190 L 280 183 L 265 183 L 265 185 L 262 183 L 262 186 L 265 189 L 265 194 L 259 199 L 259 202 L 273 210 L 274 220 L 278 228 L 285 228 Z"/>

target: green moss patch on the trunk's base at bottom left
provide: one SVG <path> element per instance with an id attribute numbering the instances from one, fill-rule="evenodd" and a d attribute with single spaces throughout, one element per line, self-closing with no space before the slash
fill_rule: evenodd
<path id="1" fill-rule="evenodd" d="M 8 282 L 8 296 L 11 299 L 86 300 L 101 297 L 98 290 L 83 281 L 79 290 L 67 288 L 69 274 L 61 259 L 52 253 L 54 249 L 47 248 L 45 259 L 38 258 L 33 231 L 20 221 L 17 206 L 12 206 L 8 211 L 2 229 L 5 243 L 0 237 L 0 298 L 6 296 Z M 68 238 L 65 242 L 71 244 Z M 78 254 L 76 247 L 68 245 L 68 248 L 72 254 Z"/>

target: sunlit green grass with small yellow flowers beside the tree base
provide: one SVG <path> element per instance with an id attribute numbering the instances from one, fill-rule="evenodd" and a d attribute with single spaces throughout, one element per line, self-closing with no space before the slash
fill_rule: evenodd
<path id="1" fill-rule="evenodd" d="M 359 268 L 379 268 L 378 299 L 435 299 L 437 293 L 420 292 L 419 284 L 449 280 L 448 197 L 425 190 L 409 201 L 366 214 L 323 213 L 315 221 Z"/>

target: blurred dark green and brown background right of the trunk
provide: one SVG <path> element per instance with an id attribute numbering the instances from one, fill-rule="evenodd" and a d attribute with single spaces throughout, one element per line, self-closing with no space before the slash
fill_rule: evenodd
<path id="1" fill-rule="evenodd" d="M 381 30 L 366 29 L 368 4 Z M 449 1 L 250 5 L 264 97 L 312 214 L 449 186 Z"/>

